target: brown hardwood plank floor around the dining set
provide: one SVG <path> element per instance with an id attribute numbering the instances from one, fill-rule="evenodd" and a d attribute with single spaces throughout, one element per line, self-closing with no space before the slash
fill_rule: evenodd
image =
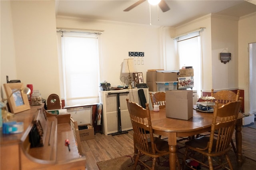
<path id="1" fill-rule="evenodd" d="M 256 122 L 255 122 L 256 124 Z M 242 128 L 242 154 L 256 161 L 256 129 Z M 235 134 L 233 134 L 235 142 Z M 133 154 L 133 131 L 127 134 L 108 136 L 96 133 L 95 138 L 81 141 L 83 155 L 86 156 L 86 169 L 99 170 L 96 162 Z"/>

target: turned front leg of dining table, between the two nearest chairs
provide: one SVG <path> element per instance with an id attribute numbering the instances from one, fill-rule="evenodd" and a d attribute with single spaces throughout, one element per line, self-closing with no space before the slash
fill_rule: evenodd
<path id="1" fill-rule="evenodd" d="M 176 170 L 176 158 L 177 158 L 177 142 L 176 142 L 176 133 L 170 132 L 168 136 L 168 144 L 170 150 L 169 162 L 170 170 Z M 178 166 L 180 168 L 180 166 Z"/>

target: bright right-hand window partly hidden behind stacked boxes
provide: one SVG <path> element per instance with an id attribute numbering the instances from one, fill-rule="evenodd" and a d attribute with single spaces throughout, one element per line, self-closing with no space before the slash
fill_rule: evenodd
<path id="1" fill-rule="evenodd" d="M 194 69 L 194 88 L 201 97 L 201 41 L 199 32 L 177 38 L 179 68 L 192 66 Z"/>

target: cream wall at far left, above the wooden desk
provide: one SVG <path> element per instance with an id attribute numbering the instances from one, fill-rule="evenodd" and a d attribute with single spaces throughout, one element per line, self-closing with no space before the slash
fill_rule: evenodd
<path id="1" fill-rule="evenodd" d="M 1 1 L 1 45 L 1 85 L 9 75 L 60 94 L 54 1 Z"/>

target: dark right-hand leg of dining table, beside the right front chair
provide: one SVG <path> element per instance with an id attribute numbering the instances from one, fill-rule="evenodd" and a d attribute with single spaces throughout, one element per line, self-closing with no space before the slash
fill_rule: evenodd
<path id="1" fill-rule="evenodd" d="M 242 119 L 238 119 L 236 122 L 236 161 L 238 166 L 242 166 Z"/>

